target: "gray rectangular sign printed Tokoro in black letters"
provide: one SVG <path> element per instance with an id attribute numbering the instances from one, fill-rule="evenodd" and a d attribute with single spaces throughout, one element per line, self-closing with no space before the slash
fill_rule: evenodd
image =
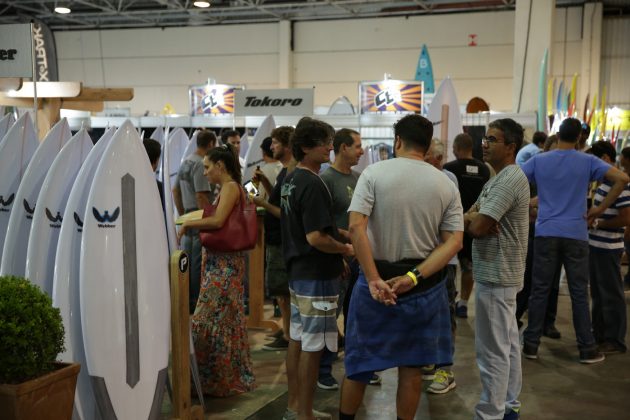
<path id="1" fill-rule="evenodd" d="M 313 92 L 312 88 L 236 91 L 234 114 L 239 117 L 313 115 Z"/>

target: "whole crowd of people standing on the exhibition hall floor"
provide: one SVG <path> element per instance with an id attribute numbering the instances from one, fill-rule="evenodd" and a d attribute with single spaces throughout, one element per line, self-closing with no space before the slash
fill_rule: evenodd
<path id="1" fill-rule="evenodd" d="M 537 132 L 523 147 L 521 125 L 499 119 L 482 139 L 483 162 L 462 133 L 453 141 L 455 160 L 443 164 L 446 151 L 432 123 L 407 115 L 394 126 L 395 157 L 360 175 L 352 170 L 364 153 L 358 132 L 335 132 L 308 117 L 273 130 L 263 143 L 273 167 L 256 170 L 262 193 L 254 201 L 266 210 L 266 287 L 282 324 L 265 348 L 287 351 L 283 418 L 330 418 L 313 407 L 319 387 L 341 388 L 339 418 L 353 419 L 366 387 L 390 368 L 398 370 L 397 417 L 414 418 L 423 379 L 432 381 L 430 393 L 456 386 L 456 317 L 468 316 L 473 288 L 482 385 L 474 416 L 519 418 L 521 355 L 536 359 L 542 335 L 560 337 L 555 317 L 563 269 L 579 361 L 625 352 L 620 262 L 630 178 L 616 168 L 610 143 L 586 146 L 586 129 L 568 118 L 556 135 Z M 178 232 L 191 256 L 202 388 L 213 396 L 256 386 L 243 303 L 245 253 L 213 252 L 199 240 L 200 230 L 221 228 L 247 199 L 240 136 L 224 134 L 219 146 L 211 131 L 198 134 L 173 188 L 180 214 L 217 205 L 213 216 L 187 221 Z M 331 151 L 335 160 L 322 170 Z M 620 160 L 630 169 L 630 148 Z M 341 386 L 332 375 L 340 346 Z"/>

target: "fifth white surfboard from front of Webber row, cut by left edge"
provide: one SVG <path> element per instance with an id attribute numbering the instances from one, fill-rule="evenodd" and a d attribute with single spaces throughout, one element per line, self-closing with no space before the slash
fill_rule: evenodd
<path id="1" fill-rule="evenodd" d="M 39 141 L 28 113 L 18 119 L 0 140 L 0 257 L 17 190 L 37 146 Z"/>

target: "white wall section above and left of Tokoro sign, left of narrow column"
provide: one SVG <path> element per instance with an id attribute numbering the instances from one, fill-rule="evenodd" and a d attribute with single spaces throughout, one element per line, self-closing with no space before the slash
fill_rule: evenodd
<path id="1" fill-rule="evenodd" d="M 168 102 L 189 112 L 188 87 L 219 83 L 275 88 L 277 25 L 125 29 L 55 33 L 61 80 L 90 87 L 133 87 L 134 114 Z"/>

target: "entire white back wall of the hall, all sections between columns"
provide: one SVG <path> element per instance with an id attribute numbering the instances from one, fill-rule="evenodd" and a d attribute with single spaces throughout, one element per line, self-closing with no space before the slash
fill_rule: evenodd
<path id="1" fill-rule="evenodd" d="M 580 69 L 581 10 L 556 11 L 551 71 L 564 75 L 565 83 Z M 188 113 L 188 86 L 210 76 L 219 83 L 277 88 L 286 84 L 279 74 L 288 73 L 293 87 L 315 86 L 316 105 L 330 105 L 341 95 L 356 102 L 359 81 L 381 80 L 384 73 L 412 79 L 422 44 L 429 48 L 436 86 L 450 76 L 460 103 L 480 96 L 493 109 L 511 109 L 513 11 L 297 22 L 292 60 L 282 61 L 291 66 L 288 72 L 279 68 L 280 32 L 270 23 L 55 37 L 62 80 L 133 87 L 130 105 L 114 105 L 131 106 L 134 114 L 159 112 L 167 102 Z M 475 47 L 468 46 L 470 34 L 477 35 Z"/>

